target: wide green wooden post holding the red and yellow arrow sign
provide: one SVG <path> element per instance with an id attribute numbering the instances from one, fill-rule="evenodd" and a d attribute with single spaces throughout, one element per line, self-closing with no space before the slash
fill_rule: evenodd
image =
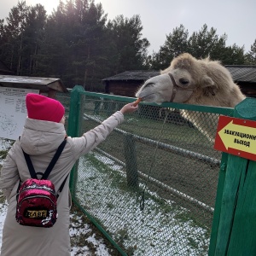
<path id="1" fill-rule="evenodd" d="M 247 98 L 236 105 L 234 117 L 256 120 L 256 100 Z M 211 255 L 256 255 L 255 183 L 256 162 L 229 154 L 216 247 Z"/>

